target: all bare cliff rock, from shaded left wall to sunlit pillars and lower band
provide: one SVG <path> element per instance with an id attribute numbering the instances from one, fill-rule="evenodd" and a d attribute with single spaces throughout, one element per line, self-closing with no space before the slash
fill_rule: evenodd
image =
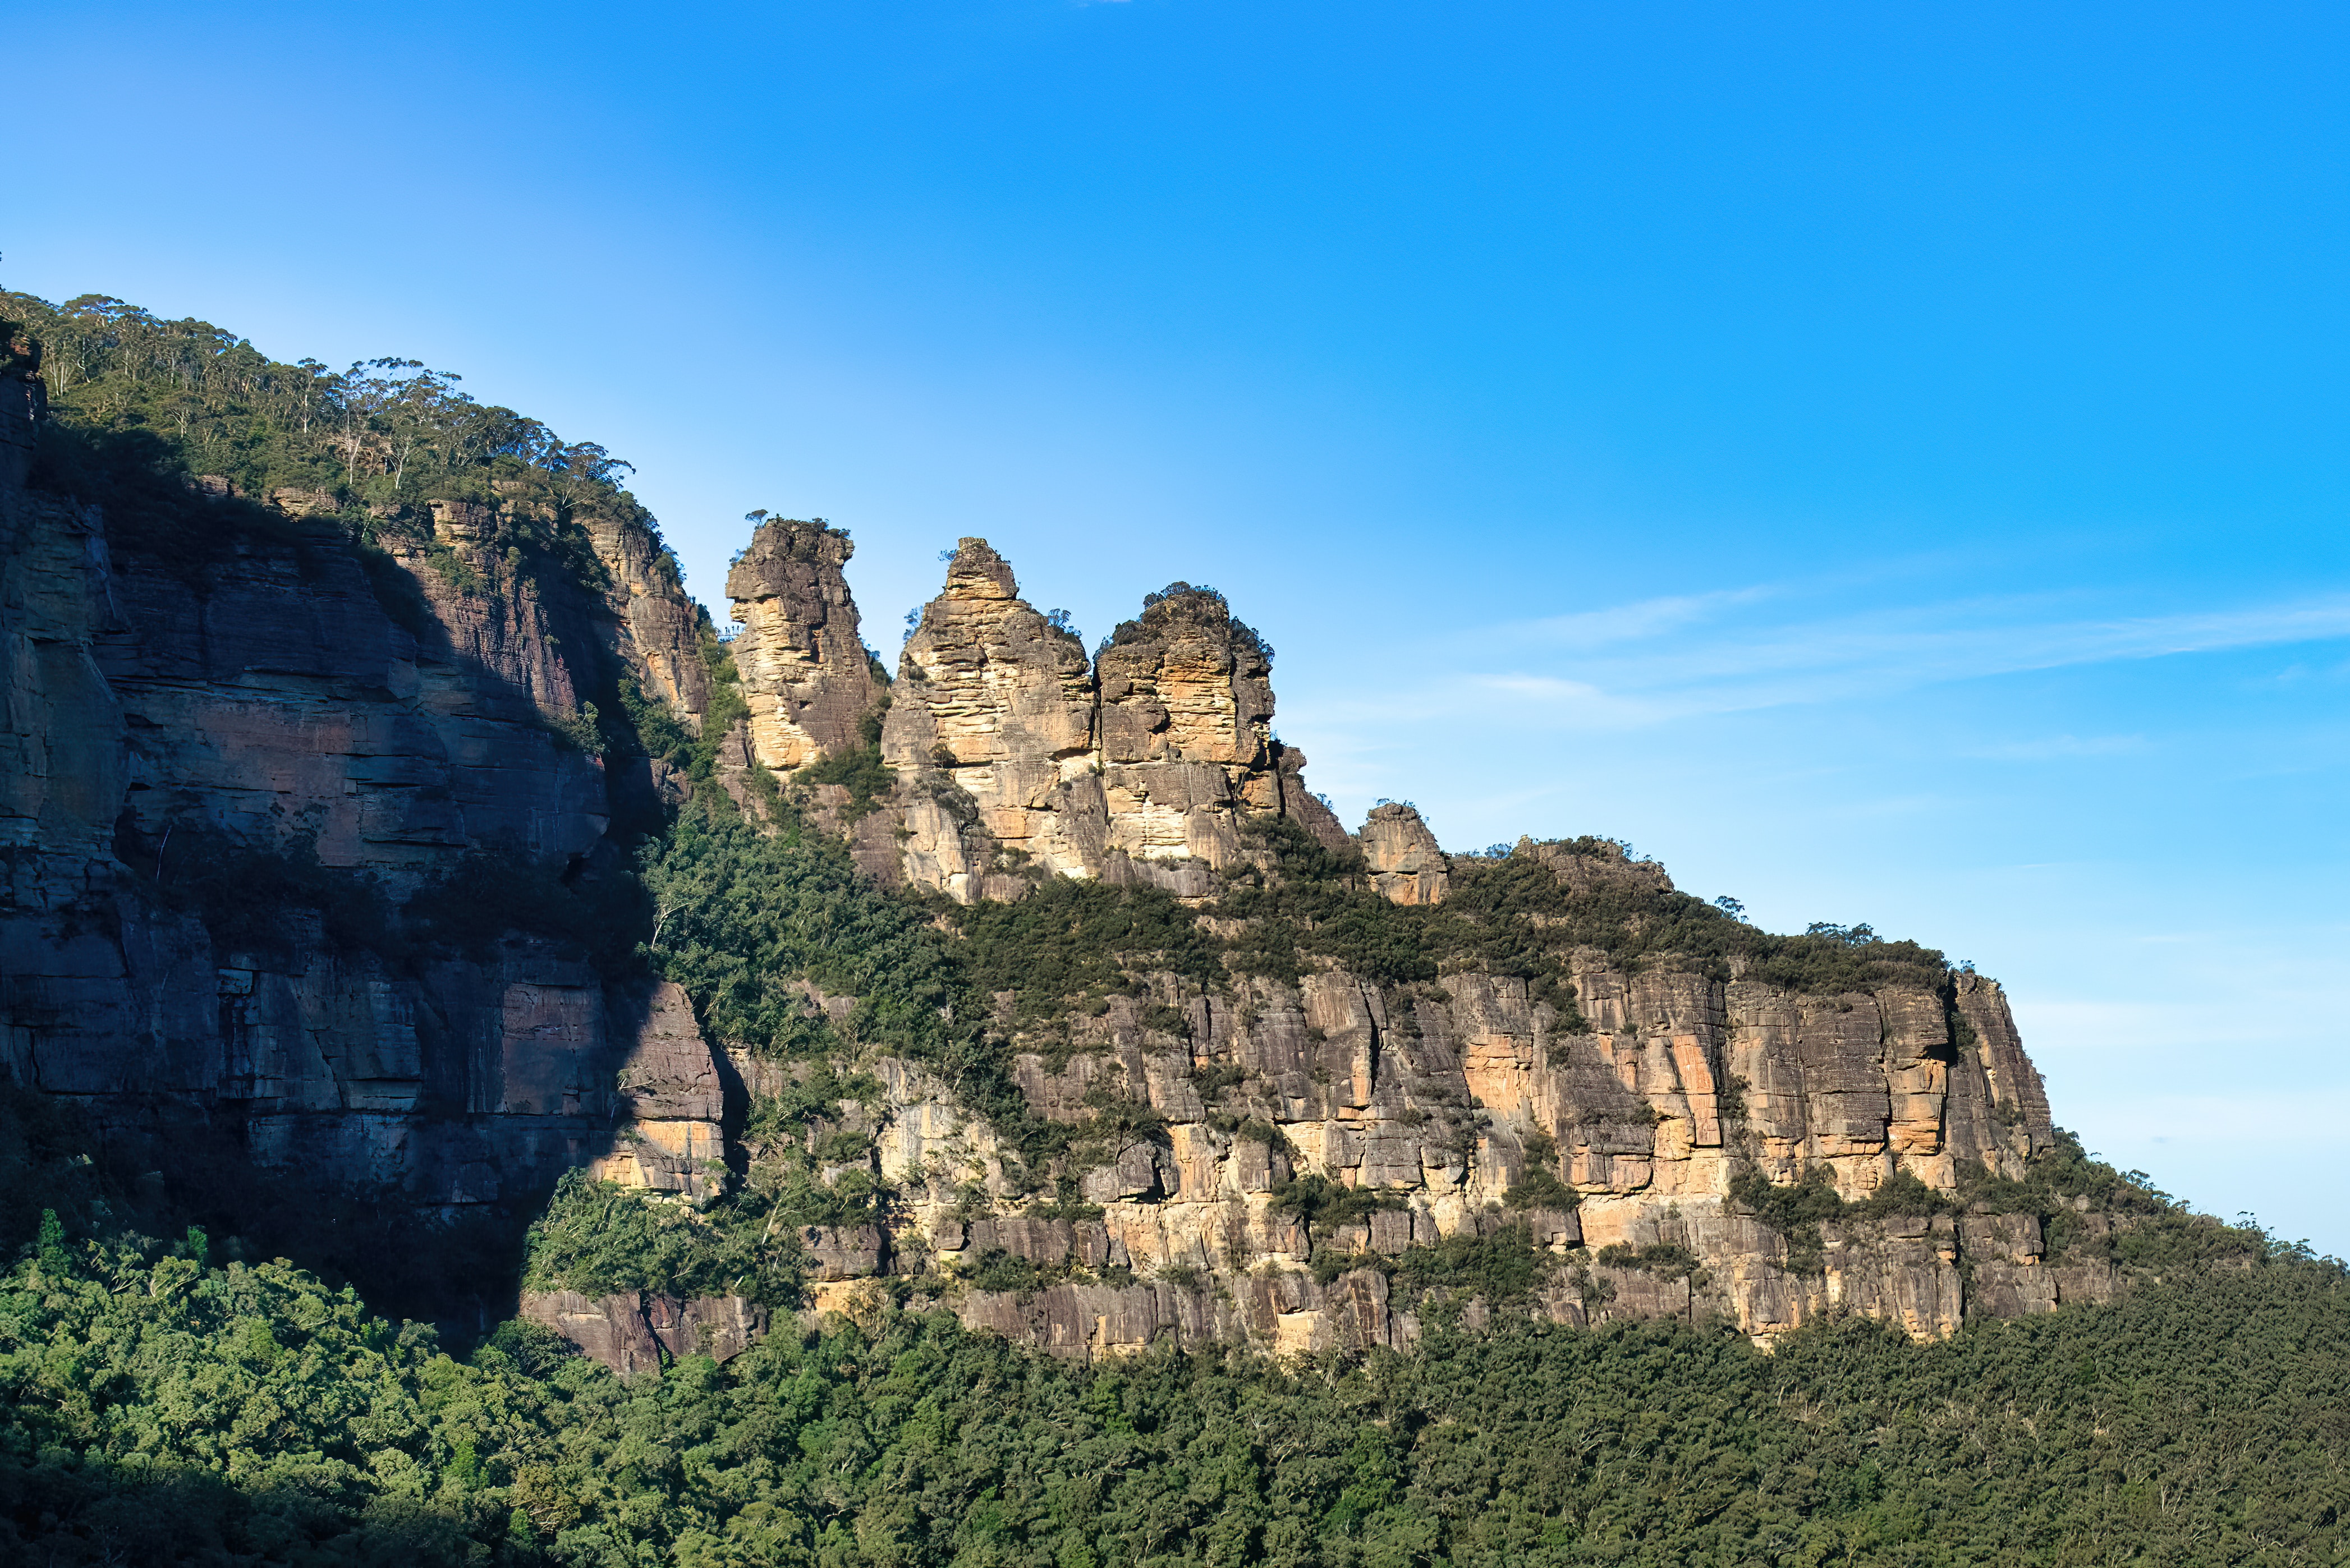
<path id="1" fill-rule="evenodd" d="M 757 1173 L 740 1112 L 794 1079 L 714 1048 L 677 985 L 599 969 L 592 907 L 529 903 L 625 889 L 616 823 L 682 790 L 625 748 L 606 766 L 590 705 L 634 684 L 689 731 L 714 710 L 658 536 L 571 517 L 592 559 L 557 562 L 512 543 L 552 515 L 510 494 L 435 503 L 376 550 L 280 491 L 226 496 L 242 522 L 200 559 L 110 548 L 96 508 L 28 487 L 38 404 L 21 364 L 0 376 L 9 1077 L 162 1164 L 204 1135 L 435 1215 L 573 1166 L 682 1201 L 726 1164 Z M 964 905 L 1159 889 L 1222 940 L 1250 919 L 1236 889 L 1297 898 L 1283 856 L 1311 851 L 1424 924 L 1349 947 L 1363 907 L 1285 903 L 1290 947 L 1236 940 L 1213 983 L 1142 952 L 1041 1023 L 999 994 L 1018 1095 L 1069 1131 L 1048 1154 L 811 992 L 879 1084 L 818 1128 L 867 1152 L 825 1143 L 818 1175 L 886 1194 L 867 1222 L 797 1227 L 815 1305 L 895 1284 L 1109 1354 L 1401 1347 L 1431 1309 L 1720 1314 L 1760 1338 L 1847 1309 L 1934 1335 L 2113 1291 L 1983 1197 L 2054 1145 L 1995 983 L 1610 945 L 1589 910 L 1671 882 L 1603 842 L 1448 858 L 1401 804 L 1349 835 L 1271 731 L 1271 651 L 1210 590 L 1152 595 L 1088 658 L 966 538 L 884 684 L 846 562 L 844 536 L 766 522 L 728 576 L 750 712 L 710 776 L 754 816 L 759 764 L 865 757 L 839 773 L 865 797 L 787 790 L 884 884 Z M 1535 912 L 1504 943 L 1506 910 Z M 764 1324 L 658 1291 L 529 1312 L 625 1368 Z"/>

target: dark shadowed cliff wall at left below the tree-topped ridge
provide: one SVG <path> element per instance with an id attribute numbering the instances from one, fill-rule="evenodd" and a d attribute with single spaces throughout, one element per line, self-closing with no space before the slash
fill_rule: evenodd
<path id="1" fill-rule="evenodd" d="M 604 1152 L 613 1070 L 667 999 L 606 987 L 529 910 L 456 910 L 486 929 L 423 950 L 369 922 L 470 865 L 451 886 L 562 893 L 642 816 L 644 759 L 609 778 L 564 731 L 620 672 L 707 705 L 658 538 L 585 520 L 583 581 L 498 548 L 519 501 L 439 503 L 369 550 L 280 496 L 226 498 L 237 536 L 195 559 L 110 550 L 99 508 L 26 487 L 38 397 L 28 367 L 0 378 L 9 1077 L 157 1164 L 228 1145 L 421 1213 Z"/>

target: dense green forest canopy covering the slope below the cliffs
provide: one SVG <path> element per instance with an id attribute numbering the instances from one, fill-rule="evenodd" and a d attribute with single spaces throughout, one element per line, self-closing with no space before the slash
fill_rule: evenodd
<path id="1" fill-rule="evenodd" d="M 0 1112 L 7 1110 L 0 1100 Z M 2291 1563 L 2350 1552 L 2350 1284 L 2270 1248 L 2115 1307 L 1774 1354 L 1690 1324 L 1455 1333 L 1525 1232 L 1394 1260 L 1412 1354 L 1097 1366 L 949 1316 L 778 1331 L 623 1385 L 505 1324 L 465 1359 L 284 1262 L 216 1265 L 0 1119 L 0 1559 L 40 1563 Z M 2059 1180 L 2061 1175 L 2052 1175 Z M 73 1197 L 85 1192 L 85 1197 Z M 658 1262 L 679 1206 L 571 1192 Z M 56 1215 L 42 1222 L 42 1211 Z M 670 1213 L 656 1215 L 651 1208 Z M 696 1248 L 700 1251 L 700 1248 Z M 1650 1258 L 1647 1267 L 1673 1267 Z M 620 1267 L 602 1284 L 719 1286 Z M 679 1267 L 700 1267 L 679 1258 Z M 1036 1279 L 985 1258 L 994 1288 Z"/>

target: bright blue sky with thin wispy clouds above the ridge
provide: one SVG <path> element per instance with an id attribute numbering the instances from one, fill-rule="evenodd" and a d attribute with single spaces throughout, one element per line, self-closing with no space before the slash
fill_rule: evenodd
<path id="1" fill-rule="evenodd" d="M 2341 7 L 677 9 L 16 19 L 0 282 L 463 371 L 703 597 L 830 517 L 884 651 L 1215 583 L 1351 820 L 1974 959 L 2350 1253 Z"/>

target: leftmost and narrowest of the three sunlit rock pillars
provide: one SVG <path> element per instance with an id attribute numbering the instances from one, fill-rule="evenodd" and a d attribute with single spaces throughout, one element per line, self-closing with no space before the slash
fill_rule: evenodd
<path id="1" fill-rule="evenodd" d="M 841 576 L 851 552 L 837 529 L 771 517 L 726 574 L 761 766 L 790 771 L 858 745 L 858 722 L 881 693 Z"/>

